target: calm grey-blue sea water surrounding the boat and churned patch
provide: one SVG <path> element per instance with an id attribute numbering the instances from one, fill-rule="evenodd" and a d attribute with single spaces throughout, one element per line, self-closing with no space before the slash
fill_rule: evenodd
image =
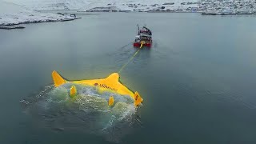
<path id="1" fill-rule="evenodd" d="M 20 101 L 47 89 L 53 70 L 71 80 L 118 71 L 137 50 L 131 44 L 136 24 L 152 30 L 154 44 L 140 50 L 120 76 L 144 99 L 141 124 L 113 130 L 113 138 L 119 143 L 256 143 L 253 15 L 79 16 L 73 22 L 0 30 L 1 144 L 112 143 L 106 135 L 84 132 L 82 123 L 82 130 L 42 126 L 43 119 L 26 114 Z"/>

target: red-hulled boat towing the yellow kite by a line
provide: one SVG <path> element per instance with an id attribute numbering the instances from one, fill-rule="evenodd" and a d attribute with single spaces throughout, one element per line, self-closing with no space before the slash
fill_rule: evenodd
<path id="1" fill-rule="evenodd" d="M 143 26 L 142 29 L 138 26 L 138 35 L 134 40 L 134 47 L 147 46 L 150 47 L 152 45 L 152 32 L 150 29 Z"/>

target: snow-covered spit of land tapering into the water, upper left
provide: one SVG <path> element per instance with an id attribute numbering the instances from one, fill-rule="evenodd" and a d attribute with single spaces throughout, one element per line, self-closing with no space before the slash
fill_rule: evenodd
<path id="1" fill-rule="evenodd" d="M 75 18 L 59 14 L 39 13 L 14 3 L 0 0 L 0 26 L 34 22 L 58 22 L 73 19 Z"/>

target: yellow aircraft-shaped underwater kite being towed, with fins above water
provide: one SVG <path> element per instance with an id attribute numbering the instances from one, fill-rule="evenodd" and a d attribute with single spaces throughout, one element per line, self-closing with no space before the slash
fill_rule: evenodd
<path id="1" fill-rule="evenodd" d="M 57 73 L 57 71 L 53 71 L 52 77 L 54 80 L 54 86 L 58 87 L 65 83 L 74 83 L 74 84 L 80 84 L 80 85 L 86 85 L 86 86 L 96 86 L 98 87 L 98 90 L 102 91 L 111 91 L 117 94 L 121 95 L 129 95 L 131 98 L 134 99 L 134 106 L 139 106 L 143 99 L 138 94 L 138 92 L 133 92 L 129 90 L 126 86 L 122 85 L 122 83 L 119 81 L 119 74 L 113 73 L 110 74 L 107 78 L 101 78 L 101 79 L 91 79 L 91 80 L 79 80 L 79 81 L 67 81 L 60 74 Z M 74 97 L 77 94 L 77 90 L 75 86 L 70 87 L 70 97 Z M 109 106 L 112 106 L 114 104 L 114 97 L 110 96 L 109 98 Z"/>

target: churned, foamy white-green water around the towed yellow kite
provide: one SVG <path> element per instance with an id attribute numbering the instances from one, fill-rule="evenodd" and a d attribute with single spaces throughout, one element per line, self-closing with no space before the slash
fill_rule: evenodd
<path id="1" fill-rule="evenodd" d="M 124 135 L 141 126 L 138 108 L 130 97 L 76 86 L 78 95 L 70 98 L 68 85 L 46 86 L 38 94 L 22 99 L 24 112 L 42 128 L 96 134 L 110 142 L 121 142 Z M 114 106 L 108 106 L 110 94 L 115 99 Z"/>

